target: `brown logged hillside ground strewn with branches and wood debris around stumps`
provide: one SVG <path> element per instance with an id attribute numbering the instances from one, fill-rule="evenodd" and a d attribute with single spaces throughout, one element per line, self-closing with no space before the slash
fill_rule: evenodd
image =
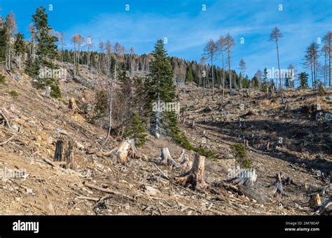
<path id="1" fill-rule="evenodd" d="M 23 73 L 2 73 L 6 85 L 0 85 L 0 109 L 11 129 L 0 117 L 0 214 L 304 215 L 314 214 L 307 204 L 311 193 L 321 193 L 323 201 L 330 196 L 332 100 L 326 96 L 332 92 L 317 97 L 312 90 L 286 90 L 284 106 L 277 94 L 252 91 L 247 97 L 247 92 L 238 91 L 230 97 L 226 91 L 222 106 L 221 90 L 212 100 L 201 88 L 179 89 L 181 130 L 193 145 L 216 155 L 206 160 L 209 188 L 201 193 L 175 182 L 181 168 L 155 163 L 161 148 L 168 147 L 174 160 L 181 154 L 170 139 L 148 137 L 146 146 L 139 148 L 141 156 L 126 165 L 104 155 L 122 139 L 111 137 L 103 145 L 106 131 L 68 109 L 71 97 L 88 104 L 94 95 L 86 72 L 81 80 L 60 83 L 61 100 L 43 96 Z M 57 139 L 64 137 L 75 141 L 75 169 L 49 162 Z M 252 188 L 225 182 L 234 167 L 230 146 L 235 142 L 247 144 L 254 162 L 257 181 Z M 193 160 L 191 151 L 185 153 Z M 294 184 L 284 186 L 284 195 L 276 197 L 279 172 Z"/>

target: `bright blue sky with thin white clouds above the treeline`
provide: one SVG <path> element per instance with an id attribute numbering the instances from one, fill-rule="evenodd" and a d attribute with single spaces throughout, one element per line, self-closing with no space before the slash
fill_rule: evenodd
<path id="1" fill-rule="evenodd" d="M 304 71 L 301 63 L 307 45 L 332 30 L 331 0 L 0 0 L 0 15 L 13 10 L 19 31 L 29 38 L 32 14 L 38 6 L 48 9 L 49 4 L 53 4 L 53 10 L 47 11 L 49 23 L 65 32 L 69 48 L 70 37 L 80 33 L 85 38 L 92 36 L 95 48 L 99 40 L 109 39 L 143 54 L 153 50 L 158 38 L 167 37 L 169 55 L 199 61 L 209 38 L 229 33 L 236 43 L 232 67 L 238 70 L 243 58 L 249 77 L 264 67 L 277 68 L 275 45 L 268 41 L 273 27 L 284 34 L 279 42 L 281 68 L 293 64 L 297 71 Z M 220 66 L 221 60 L 216 64 Z"/>

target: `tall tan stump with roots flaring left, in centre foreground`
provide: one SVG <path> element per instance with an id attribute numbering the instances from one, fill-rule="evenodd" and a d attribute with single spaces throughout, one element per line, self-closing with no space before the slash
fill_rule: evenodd
<path id="1" fill-rule="evenodd" d="M 177 181 L 184 183 L 184 186 L 191 185 L 193 190 L 205 190 L 207 183 L 204 179 L 205 173 L 205 156 L 195 153 L 193 167 L 188 172 L 177 177 Z"/>

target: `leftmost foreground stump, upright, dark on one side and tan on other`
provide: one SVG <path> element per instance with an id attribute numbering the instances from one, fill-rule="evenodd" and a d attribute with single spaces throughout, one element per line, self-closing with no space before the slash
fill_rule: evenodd
<path id="1" fill-rule="evenodd" d="M 75 169 L 74 142 L 66 139 L 57 140 L 53 161 L 66 162 L 62 165 L 66 169 Z"/>

